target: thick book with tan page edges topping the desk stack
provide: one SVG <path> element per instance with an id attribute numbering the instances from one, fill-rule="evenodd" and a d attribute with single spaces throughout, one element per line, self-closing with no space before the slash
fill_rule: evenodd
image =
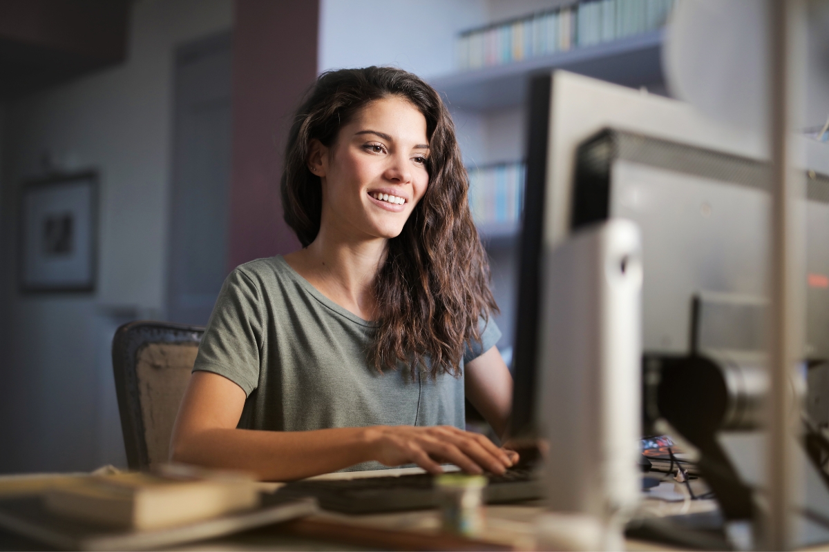
<path id="1" fill-rule="evenodd" d="M 90 477 L 53 488 L 46 509 L 68 518 L 128 530 L 149 530 L 201 521 L 259 506 L 248 478 L 182 480 L 148 473 Z"/>

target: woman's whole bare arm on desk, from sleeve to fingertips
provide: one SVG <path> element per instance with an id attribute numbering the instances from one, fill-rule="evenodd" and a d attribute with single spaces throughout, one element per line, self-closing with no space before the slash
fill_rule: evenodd
<path id="1" fill-rule="evenodd" d="M 170 459 L 245 470 L 272 481 L 307 478 L 369 460 L 386 466 L 416 463 L 430 473 L 441 473 L 442 461 L 470 473 L 503 473 L 513 463 L 489 439 L 448 426 L 237 430 L 243 406 L 240 386 L 218 374 L 194 372 L 172 431 Z"/>

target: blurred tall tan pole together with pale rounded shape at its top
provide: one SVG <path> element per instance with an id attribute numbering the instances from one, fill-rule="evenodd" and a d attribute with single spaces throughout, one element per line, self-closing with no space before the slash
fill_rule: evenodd
<path id="1" fill-rule="evenodd" d="M 764 504 L 754 512 L 755 521 L 764 520 L 755 523 L 755 536 L 767 550 L 796 545 L 799 528 L 793 512 L 804 495 L 798 447 L 793 444 L 801 433 L 797 414 L 805 386 L 797 369 L 804 353 L 805 190 L 793 171 L 792 163 L 801 159 L 802 151 L 792 133 L 810 134 L 810 123 L 821 126 L 827 113 L 825 86 L 814 89 L 817 94 L 808 98 L 803 110 L 805 91 L 812 88 L 807 79 L 819 82 L 829 74 L 829 55 L 818 47 L 826 44 L 826 30 L 821 28 L 825 4 L 683 2 L 674 14 L 665 49 L 671 91 L 715 120 L 757 132 L 766 141 L 771 161 L 769 393 L 764 401 L 768 472 Z M 807 10 L 812 17 L 806 17 Z M 812 117 L 819 118 L 808 120 Z"/>

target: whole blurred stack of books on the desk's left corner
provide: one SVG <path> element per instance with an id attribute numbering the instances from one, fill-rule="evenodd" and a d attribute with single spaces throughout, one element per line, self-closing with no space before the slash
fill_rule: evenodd
<path id="1" fill-rule="evenodd" d="M 162 472 L 0 477 L 0 530 L 59 550 L 147 550 L 317 511 L 313 499 L 276 497 L 244 474 Z"/>

